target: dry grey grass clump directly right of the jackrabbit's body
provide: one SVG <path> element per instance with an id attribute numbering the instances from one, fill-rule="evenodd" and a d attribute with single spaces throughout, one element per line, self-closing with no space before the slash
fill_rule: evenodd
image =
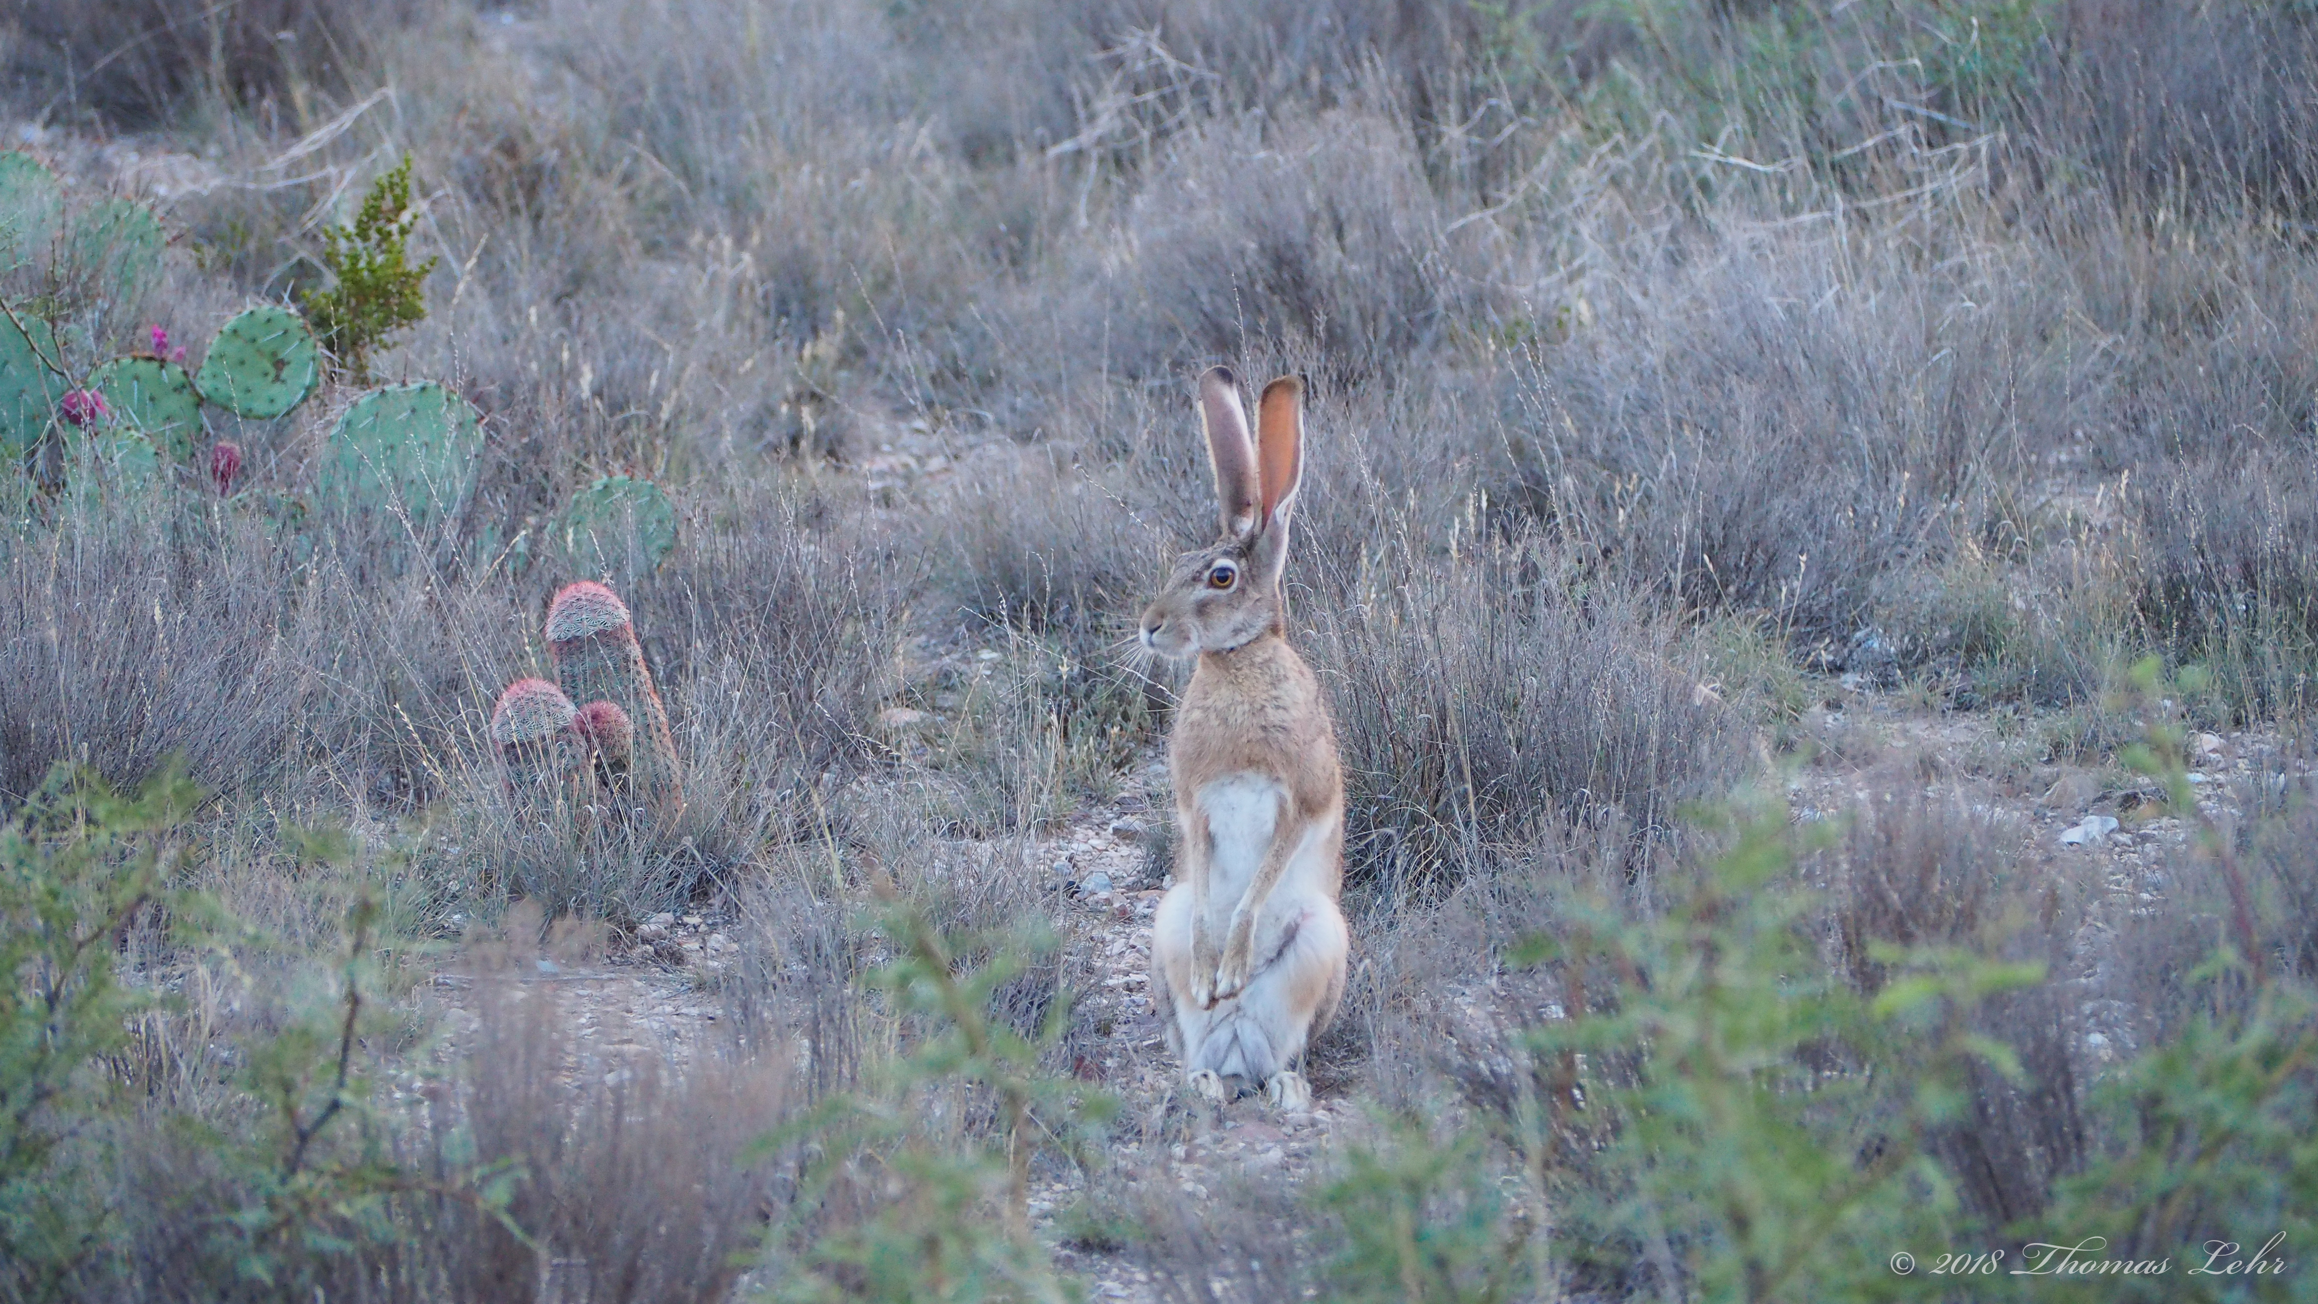
<path id="1" fill-rule="evenodd" d="M 1637 828 L 1738 777 L 1745 731 L 1671 624 L 1541 541 L 1328 575 L 1312 659 L 1335 701 L 1347 859 L 1384 903 L 1437 896 L 1555 817 Z"/>

